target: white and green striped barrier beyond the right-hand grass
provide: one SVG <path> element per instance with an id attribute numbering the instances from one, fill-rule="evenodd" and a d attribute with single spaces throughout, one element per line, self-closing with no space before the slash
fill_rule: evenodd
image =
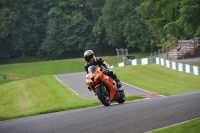
<path id="1" fill-rule="evenodd" d="M 165 60 L 162 58 L 143 58 L 143 59 L 134 59 L 134 60 L 129 60 L 128 65 L 135 66 L 135 65 L 147 65 L 147 64 L 159 64 L 174 70 L 182 71 L 182 72 L 187 72 L 195 75 L 200 75 L 200 67 L 197 66 L 192 66 L 188 64 L 181 64 L 177 62 L 172 62 L 169 60 Z M 110 68 L 113 67 L 123 67 L 125 64 L 124 62 L 118 63 L 114 66 L 111 66 Z"/>

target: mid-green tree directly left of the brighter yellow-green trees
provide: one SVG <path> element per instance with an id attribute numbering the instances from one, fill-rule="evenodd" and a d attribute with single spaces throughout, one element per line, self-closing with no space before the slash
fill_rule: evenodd
<path id="1" fill-rule="evenodd" d="M 135 11 L 141 2 L 142 0 L 106 1 L 102 10 L 102 19 L 109 45 L 138 47 L 143 52 L 150 45 L 148 28 Z"/>

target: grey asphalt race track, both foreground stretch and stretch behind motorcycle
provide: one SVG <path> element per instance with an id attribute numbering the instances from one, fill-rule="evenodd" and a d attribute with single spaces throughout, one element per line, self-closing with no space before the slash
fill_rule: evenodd
<path id="1" fill-rule="evenodd" d="M 56 75 L 77 95 L 96 98 L 85 72 Z M 127 95 L 152 94 L 123 84 Z M 200 91 L 167 97 L 62 111 L 0 122 L 0 133 L 144 133 L 200 118 Z"/>

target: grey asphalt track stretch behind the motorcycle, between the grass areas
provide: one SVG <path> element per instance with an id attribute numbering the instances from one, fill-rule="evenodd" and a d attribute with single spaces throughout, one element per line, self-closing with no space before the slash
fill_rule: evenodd
<path id="1" fill-rule="evenodd" d="M 80 95 L 85 99 L 97 98 L 92 91 L 87 89 L 85 84 L 86 72 L 61 74 L 56 75 L 56 77 L 60 82 L 68 86 L 77 95 Z M 122 88 L 125 90 L 127 96 L 153 94 L 153 92 L 148 92 L 126 83 L 122 83 Z"/>

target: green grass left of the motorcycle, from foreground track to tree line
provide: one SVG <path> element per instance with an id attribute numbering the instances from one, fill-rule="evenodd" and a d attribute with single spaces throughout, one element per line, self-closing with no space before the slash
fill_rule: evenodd
<path id="1" fill-rule="evenodd" d="M 116 63 L 116 56 L 103 57 Z M 101 105 L 75 95 L 53 75 L 84 71 L 83 58 L 0 65 L 0 120 Z M 87 91 L 87 90 L 86 90 Z M 128 97 L 127 100 L 141 98 Z"/>

